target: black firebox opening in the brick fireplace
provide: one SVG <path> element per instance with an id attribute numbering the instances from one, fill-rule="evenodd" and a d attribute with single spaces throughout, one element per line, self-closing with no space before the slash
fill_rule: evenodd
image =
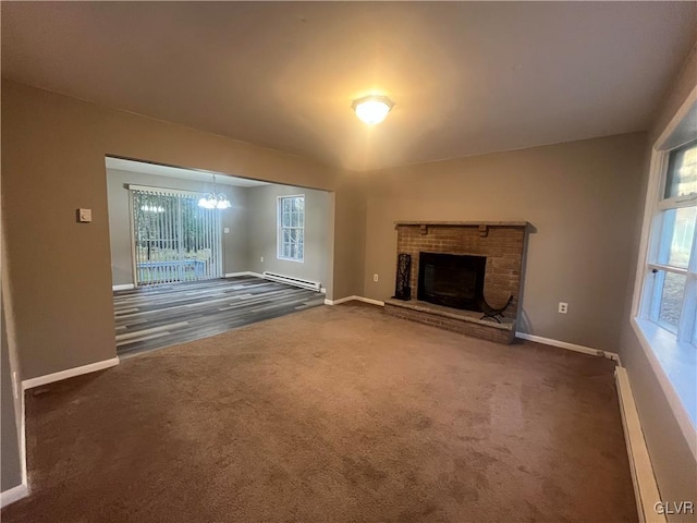
<path id="1" fill-rule="evenodd" d="M 486 256 L 419 253 L 417 297 L 447 307 L 481 312 Z"/>

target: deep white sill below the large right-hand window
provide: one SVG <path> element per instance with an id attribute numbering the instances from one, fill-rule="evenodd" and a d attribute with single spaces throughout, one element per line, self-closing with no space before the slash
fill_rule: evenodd
<path id="1" fill-rule="evenodd" d="M 697 350 L 647 319 L 634 318 L 632 327 L 697 459 Z"/>

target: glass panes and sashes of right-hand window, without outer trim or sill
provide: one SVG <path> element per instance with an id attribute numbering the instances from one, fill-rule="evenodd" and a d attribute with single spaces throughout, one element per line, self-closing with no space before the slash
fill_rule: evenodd
<path id="1" fill-rule="evenodd" d="M 660 156 L 640 316 L 697 348 L 697 141 Z"/>

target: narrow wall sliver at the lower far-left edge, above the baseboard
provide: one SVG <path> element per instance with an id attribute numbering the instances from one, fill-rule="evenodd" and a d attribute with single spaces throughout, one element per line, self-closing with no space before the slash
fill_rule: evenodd
<path id="1" fill-rule="evenodd" d="M 0 491 L 9 490 L 22 483 L 22 467 L 20 464 L 20 440 L 17 431 L 17 416 L 15 411 L 14 396 L 12 393 L 12 374 L 10 367 L 10 350 L 8 333 L 5 329 L 4 303 L 0 299 L 0 462 L 2 470 L 0 474 Z"/>

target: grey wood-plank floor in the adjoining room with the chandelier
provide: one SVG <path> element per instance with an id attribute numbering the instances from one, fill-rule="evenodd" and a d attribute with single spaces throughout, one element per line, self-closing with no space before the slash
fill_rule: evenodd
<path id="1" fill-rule="evenodd" d="M 113 293 L 119 356 L 198 340 L 325 303 L 325 294 L 242 276 Z"/>

